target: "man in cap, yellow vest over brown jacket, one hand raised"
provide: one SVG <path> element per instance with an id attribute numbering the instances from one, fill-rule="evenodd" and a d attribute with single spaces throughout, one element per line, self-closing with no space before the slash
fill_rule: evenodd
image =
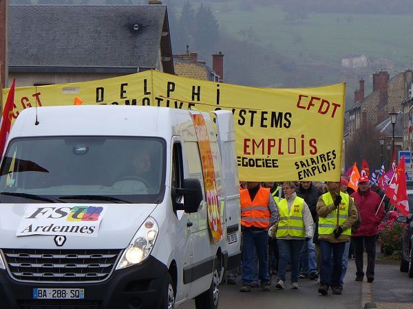
<path id="1" fill-rule="evenodd" d="M 319 216 L 319 246 L 321 249 L 321 273 L 318 292 L 340 295 L 343 271 L 343 252 L 350 240 L 351 227 L 357 221 L 357 209 L 352 198 L 340 191 L 339 181 L 327 181 L 328 192 L 319 197 L 317 214 Z M 332 262 L 331 262 L 332 254 Z"/>

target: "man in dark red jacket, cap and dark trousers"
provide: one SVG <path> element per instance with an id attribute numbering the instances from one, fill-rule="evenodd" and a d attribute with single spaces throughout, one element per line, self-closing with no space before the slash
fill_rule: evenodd
<path id="1" fill-rule="evenodd" d="M 357 192 L 351 194 L 360 211 L 361 225 L 352 235 L 356 260 L 356 281 L 363 281 L 363 249 L 367 253 L 367 282 L 374 281 L 374 263 L 376 260 L 376 240 L 379 224 L 385 216 L 384 205 L 379 194 L 370 190 L 367 176 L 359 178 Z M 376 214 L 377 213 L 377 214 Z"/>

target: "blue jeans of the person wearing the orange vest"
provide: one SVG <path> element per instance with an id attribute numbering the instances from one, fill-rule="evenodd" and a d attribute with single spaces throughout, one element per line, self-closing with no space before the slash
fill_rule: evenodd
<path id="1" fill-rule="evenodd" d="M 254 249 L 258 258 L 258 279 L 269 282 L 268 231 L 242 229 L 242 285 L 251 285 L 256 273 Z"/>

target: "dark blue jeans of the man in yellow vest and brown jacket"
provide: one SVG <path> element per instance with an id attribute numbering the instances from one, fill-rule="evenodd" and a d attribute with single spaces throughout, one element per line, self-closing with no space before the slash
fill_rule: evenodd
<path id="1" fill-rule="evenodd" d="M 320 240 L 321 273 L 320 283 L 326 286 L 341 286 L 340 279 L 343 272 L 343 252 L 345 242 L 327 242 Z M 331 263 L 332 253 L 332 263 Z"/>

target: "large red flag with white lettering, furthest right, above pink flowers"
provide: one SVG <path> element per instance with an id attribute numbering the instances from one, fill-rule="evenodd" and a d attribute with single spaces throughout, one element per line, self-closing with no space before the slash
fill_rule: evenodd
<path id="1" fill-rule="evenodd" d="M 385 195 L 390 198 L 390 203 L 399 209 L 403 216 L 407 217 L 407 214 L 409 214 L 409 202 L 407 199 L 404 156 L 402 157 L 399 166 L 396 168 L 396 172 L 394 172 L 389 187 L 385 190 Z"/>

